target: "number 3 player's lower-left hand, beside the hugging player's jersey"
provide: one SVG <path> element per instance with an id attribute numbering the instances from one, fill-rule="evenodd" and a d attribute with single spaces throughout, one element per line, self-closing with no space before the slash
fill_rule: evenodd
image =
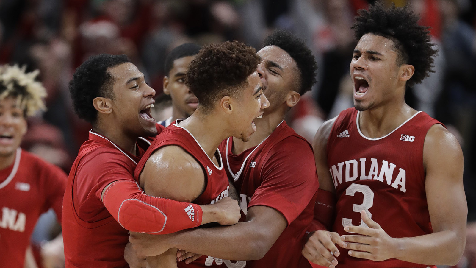
<path id="1" fill-rule="evenodd" d="M 302 255 L 315 264 L 334 268 L 337 265 L 335 257 L 340 254 L 336 244 L 341 247 L 344 245 L 344 241 L 340 239 L 336 232 L 315 231 L 309 234 L 302 249 Z"/>

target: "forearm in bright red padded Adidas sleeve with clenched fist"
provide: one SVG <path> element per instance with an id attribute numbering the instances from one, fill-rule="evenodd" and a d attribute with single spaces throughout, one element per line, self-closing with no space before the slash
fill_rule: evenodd
<path id="1" fill-rule="evenodd" d="M 119 177 L 119 176 L 118 176 Z M 129 174 L 109 183 L 101 200 L 109 213 L 122 227 L 133 232 L 169 234 L 210 222 L 229 220 L 236 201 L 223 199 L 213 205 L 196 205 L 145 194 Z M 189 206 L 195 211 L 192 221 L 185 212 Z"/>

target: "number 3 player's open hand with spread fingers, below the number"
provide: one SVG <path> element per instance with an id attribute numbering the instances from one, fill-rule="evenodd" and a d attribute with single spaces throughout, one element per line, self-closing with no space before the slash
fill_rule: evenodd
<path id="1" fill-rule="evenodd" d="M 367 227 L 346 226 L 344 231 L 357 235 L 343 235 L 342 241 L 346 242 L 344 248 L 350 249 L 348 254 L 356 258 L 371 260 L 386 260 L 394 258 L 397 251 L 398 238 L 392 238 L 375 221 L 367 216 L 365 210 L 360 211 L 362 221 Z"/>

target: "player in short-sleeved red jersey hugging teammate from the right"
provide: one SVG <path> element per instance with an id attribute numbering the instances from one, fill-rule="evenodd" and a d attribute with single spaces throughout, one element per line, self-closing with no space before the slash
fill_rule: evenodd
<path id="1" fill-rule="evenodd" d="M 142 254 L 179 247 L 205 254 L 208 264 L 223 268 L 310 267 L 301 249 L 318 187 L 314 157 L 311 145 L 283 119 L 315 83 L 317 66 L 306 45 L 287 32 L 273 32 L 264 45 L 257 53 L 258 73 L 269 108 L 255 120 L 257 130 L 248 142 L 228 138 L 220 145 L 240 194 L 242 221 L 157 237 L 162 241 L 131 235 L 133 244 L 140 240 L 134 247 Z"/>

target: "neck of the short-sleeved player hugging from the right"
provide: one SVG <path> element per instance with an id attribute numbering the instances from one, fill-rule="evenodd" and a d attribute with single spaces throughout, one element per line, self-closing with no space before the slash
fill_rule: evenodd
<path id="1" fill-rule="evenodd" d="M 266 139 L 279 124 L 284 120 L 282 113 L 267 113 L 265 110 L 262 118 L 253 120 L 256 125 L 256 131 L 253 133 L 248 142 L 233 137 L 232 153 L 235 155 L 241 154 L 243 151 L 248 150 L 251 147 L 257 146 L 264 139 Z"/>

